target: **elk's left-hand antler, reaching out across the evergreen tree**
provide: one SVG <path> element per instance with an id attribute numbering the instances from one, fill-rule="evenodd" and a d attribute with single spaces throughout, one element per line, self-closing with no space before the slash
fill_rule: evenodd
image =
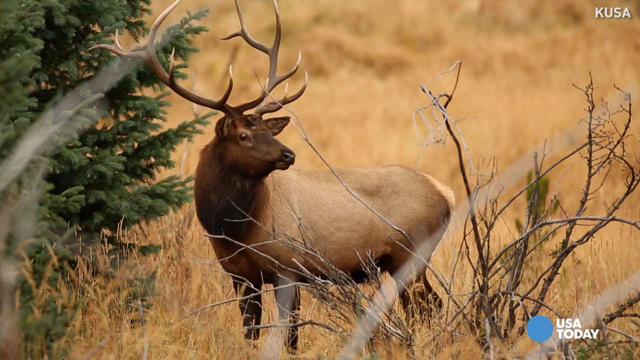
<path id="1" fill-rule="evenodd" d="M 195 104 L 205 106 L 207 108 L 211 108 L 213 110 L 222 111 L 223 113 L 228 115 L 241 115 L 241 113 L 237 113 L 236 108 L 227 104 L 227 100 L 229 98 L 229 95 L 231 94 L 231 90 L 234 85 L 231 68 L 229 68 L 229 83 L 227 85 L 227 90 L 225 91 L 225 94 L 222 96 L 222 98 L 219 101 L 215 101 L 215 100 L 207 99 L 200 95 L 194 94 L 193 92 L 189 92 L 189 90 L 186 90 L 186 88 L 183 88 L 182 86 L 178 85 L 175 82 L 175 78 L 173 77 L 174 69 L 175 69 L 174 60 L 173 60 L 175 49 L 173 49 L 171 54 L 171 61 L 170 61 L 168 73 L 164 71 L 164 68 L 162 67 L 160 61 L 158 61 L 158 58 L 156 55 L 157 31 L 160 28 L 164 19 L 168 17 L 168 15 L 173 11 L 173 9 L 176 8 L 176 6 L 178 6 L 179 3 L 180 3 L 180 0 L 174 1 L 168 8 L 166 8 L 157 17 L 156 21 L 154 21 L 154 24 L 151 26 L 151 29 L 149 31 L 149 37 L 147 40 L 146 49 L 138 50 L 138 51 L 125 51 L 125 49 L 123 49 L 122 46 L 120 46 L 120 42 L 118 41 L 118 37 L 117 37 L 118 31 L 116 31 L 115 45 L 107 45 L 107 44 L 95 45 L 93 47 L 90 47 L 89 51 L 92 51 L 94 49 L 105 49 L 105 50 L 111 51 L 111 53 L 114 53 L 117 56 L 120 56 L 122 58 L 140 58 L 142 60 L 145 60 L 147 65 L 156 73 L 158 78 L 160 78 L 161 81 L 163 81 L 163 83 L 166 86 L 169 86 L 169 88 L 172 89 L 176 94 L 180 95 L 181 97 L 184 97 L 184 99 L 194 102 Z"/>

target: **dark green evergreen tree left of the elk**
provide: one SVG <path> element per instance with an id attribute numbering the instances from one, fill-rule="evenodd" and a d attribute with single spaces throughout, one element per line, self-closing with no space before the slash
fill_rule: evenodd
<path id="1" fill-rule="evenodd" d="M 59 297 L 50 295 L 35 318 L 33 301 L 74 266 L 76 253 L 61 245 L 69 233 L 81 231 L 84 242 L 95 240 L 103 230 L 154 220 L 191 200 L 191 179 L 156 175 L 175 165 L 172 151 L 200 133 L 212 113 L 165 128 L 169 93 L 141 94 L 164 88 L 143 63 L 132 65 L 115 86 L 86 85 L 100 72 L 118 71 L 127 63 L 106 51 L 86 50 L 111 42 L 116 29 L 143 38 L 148 26 L 141 18 L 150 13 L 149 4 L 0 2 L 0 259 L 17 258 L 18 249 L 28 257 L 29 269 L 15 286 L 22 343 L 44 341 L 36 350 L 24 345 L 23 355 L 44 356 L 31 352 L 43 348 L 49 357 L 65 354 L 54 343 L 65 336 L 72 309 L 61 309 Z M 175 48 L 175 58 L 182 61 L 177 69 L 186 67 L 197 51 L 193 38 L 206 30 L 193 21 L 205 14 L 187 13 L 168 29 L 158 49 L 163 65 Z M 186 76 L 177 71 L 176 77 Z M 80 98 L 76 106 L 58 111 L 54 105 L 74 89 Z M 45 133 L 50 141 L 29 142 L 38 138 L 29 138 L 33 131 L 42 135 L 42 129 L 56 126 Z"/>

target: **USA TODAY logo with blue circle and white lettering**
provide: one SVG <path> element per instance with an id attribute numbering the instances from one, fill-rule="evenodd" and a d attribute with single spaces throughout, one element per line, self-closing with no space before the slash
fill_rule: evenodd
<path id="1" fill-rule="evenodd" d="M 544 315 L 536 315 L 527 322 L 527 335 L 531 340 L 543 343 L 551 336 L 558 339 L 595 339 L 600 329 L 582 329 L 580 319 L 556 319 L 554 324 Z"/>

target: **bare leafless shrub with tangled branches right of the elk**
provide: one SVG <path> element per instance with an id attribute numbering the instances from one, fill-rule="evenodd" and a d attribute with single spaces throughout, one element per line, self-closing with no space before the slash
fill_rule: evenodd
<path id="1" fill-rule="evenodd" d="M 526 184 L 507 196 L 496 179 L 498 171 L 495 160 L 488 162 L 486 172 L 474 174 L 468 170 L 465 149 L 459 140 L 460 133 L 454 131 L 457 129 L 455 123 L 447 114 L 447 106 L 458 85 L 460 65 L 456 63 L 450 69 L 457 69 L 456 85 L 451 94 L 435 95 L 422 86 L 429 97 L 428 106 L 423 108 L 433 106 L 439 117 L 436 121 L 440 122 L 440 126 L 444 123 L 448 136 L 456 144 L 460 175 L 468 202 L 468 211 L 458 214 L 463 216 L 463 233 L 454 264 L 459 265 L 460 259 L 466 261 L 473 272 L 473 281 L 466 295 L 457 296 L 465 305 L 447 317 L 446 326 L 472 332 L 483 345 L 486 355 L 493 357 L 497 347 L 513 344 L 524 334 L 525 323 L 532 316 L 551 313 L 554 317 L 565 317 L 548 304 L 547 297 L 554 284 L 561 286 L 557 284 L 561 278 L 559 274 L 563 271 L 566 259 L 576 249 L 593 241 L 598 232 L 614 223 L 640 229 L 637 220 L 618 215 L 625 200 L 640 184 L 640 167 L 637 157 L 628 151 L 631 139 L 631 95 L 614 85 L 623 99 L 622 104 L 616 108 L 604 100 L 596 104 L 596 88 L 589 74 L 586 86 L 574 85 L 584 94 L 587 104 L 586 117 L 580 120 L 586 127 L 584 140 L 561 156 L 554 155 L 551 158 L 547 151 L 534 153 Z M 562 165 L 576 160 L 582 164 L 586 176 L 577 204 L 570 206 L 567 205 L 570 201 L 563 201 L 557 193 L 550 193 L 549 181 L 553 174 L 559 173 Z M 618 193 L 609 195 L 613 200 L 605 204 L 604 213 L 590 215 L 588 208 L 595 202 L 596 193 L 606 184 L 616 181 L 612 177 L 614 172 L 624 174 L 624 186 L 618 189 Z M 505 243 L 497 226 L 504 222 L 507 211 L 516 208 L 516 200 L 523 197 L 526 203 L 524 220 L 516 220 L 516 233 Z M 554 237 L 559 241 L 549 241 Z M 550 242 L 554 242 L 554 249 L 550 249 Z M 455 271 L 454 268 L 452 273 Z M 637 291 L 630 289 L 634 290 Z M 610 300 L 611 305 L 622 304 L 609 315 L 598 315 L 598 320 L 591 322 L 591 325 L 598 327 L 600 323 L 607 324 L 620 316 L 634 316 L 625 312 L 640 297 L 636 295 L 628 299 Z M 598 345 L 602 343 L 600 341 Z M 608 343 L 615 345 L 616 341 Z M 575 354 L 574 348 L 575 344 L 564 343 L 564 356 Z M 552 350 L 547 348 L 545 352 Z"/>

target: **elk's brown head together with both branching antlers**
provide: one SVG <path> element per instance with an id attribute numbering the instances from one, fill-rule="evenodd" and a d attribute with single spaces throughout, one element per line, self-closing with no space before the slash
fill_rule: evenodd
<path id="1" fill-rule="evenodd" d="M 285 104 L 289 104 L 298 99 L 307 89 L 308 76 L 307 72 L 305 72 L 305 83 L 295 94 L 288 96 L 287 86 L 285 86 L 284 97 L 282 97 L 282 99 L 276 100 L 271 97 L 271 91 L 276 86 L 286 79 L 291 78 L 291 76 L 298 71 L 301 61 L 301 53 L 298 53 L 296 65 L 285 74 L 277 74 L 278 51 L 280 49 L 280 39 L 282 35 L 278 3 L 276 3 L 276 0 L 273 0 L 273 8 L 276 15 L 276 30 L 271 47 L 257 42 L 249 34 L 246 24 L 244 24 L 243 13 L 240 10 L 238 0 L 236 0 L 236 10 L 241 28 L 226 37 L 220 38 L 221 40 L 228 40 L 234 37 L 241 37 L 247 44 L 269 56 L 268 78 L 264 86 L 261 84 L 262 90 L 260 94 L 255 99 L 239 105 L 230 105 L 227 102 L 234 85 L 232 67 L 229 67 L 227 90 L 220 100 L 212 100 L 194 94 L 175 82 L 173 76 L 175 69 L 173 52 L 168 72 L 164 70 L 158 61 L 156 56 L 157 30 L 163 20 L 166 19 L 179 3 L 180 0 L 175 1 L 156 19 L 151 26 L 147 47 L 145 49 L 126 51 L 120 46 L 120 42 L 118 42 L 118 31 L 116 31 L 115 45 L 95 45 L 89 50 L 106 49 L 123 58 L 139 58 L 144 60 L 161 81 L 176 94 L 200 106 L 224 113 L 224 116 L 218 120 L 216 124 L 216 137 L 212 145 L 214 151 L 221 155 L 218 158 L 223 162 L 221 165 L 225 168 L 236 170 L 238 174 L 244 177 L 264 177 L 273 170 L 286 170 L 293 165 L 296 156 L 291 149 L 282 145 L 274 136 L 278 135 L 282 129 L 289 124 L 290 119 L 289 117 L 262 119 L 262 115 L 278 111 Z M 252 109 L 254 109 L 252 114 L 244 114 L 246 111 Z"/>

